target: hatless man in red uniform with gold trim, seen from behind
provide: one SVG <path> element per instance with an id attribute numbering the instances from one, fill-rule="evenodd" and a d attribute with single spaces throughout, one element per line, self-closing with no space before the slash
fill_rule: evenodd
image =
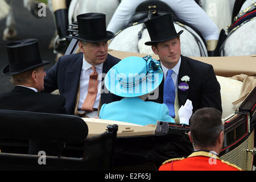
<path id="1" fill-rule="evenodd" d="M 242 169 L 221 160 L 219 154 L 224 142 L 221 112 L 212 107 L 197 110 L 191 117 L 189 139 L 194 152 L 187 158 L 167 160 L 159 171 L 241 171 Z"/>

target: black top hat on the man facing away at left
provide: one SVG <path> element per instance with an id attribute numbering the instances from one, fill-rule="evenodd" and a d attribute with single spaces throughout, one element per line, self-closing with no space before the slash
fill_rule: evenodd
<path id="1" fill-rule="evenodd" d="M 38 39 L 23 39 L 6 45 L 9 64 L 3 68 L 3 75 L 16 75 L 41 65 L 49 64 L 40 56 Z"/>

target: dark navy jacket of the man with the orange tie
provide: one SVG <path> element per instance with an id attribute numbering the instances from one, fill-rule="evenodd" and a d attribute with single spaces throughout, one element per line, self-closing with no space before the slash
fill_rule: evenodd
<path id="1" fill-rule="evenodd" d="M 43 92 L 53 92 L 59 89 L 60 95 L 65 97 L 65 108 L 68 114 L 74 114 L 77 91 L 80 84 L 83 53 L 75 53 L 60 57 L 57 63 L 46 72 L 44 77 Z M 120 61 L 117 57 L 108 54 L 103 64 L 102 73 L 107 73 L 110 68 Z M 104 77 L 102 77 L 102 80 Z M 103 81 L 104 82 L 104 81 Z M 103 83 L 101 82 L 101 83 Z M 102 85 L 103 87 L 104 85 Z M 104 89 L 104 87 L 102 88 Z M 112 93 L 102 92 L 101 104 L 121 100 L 121 97 Z"/>

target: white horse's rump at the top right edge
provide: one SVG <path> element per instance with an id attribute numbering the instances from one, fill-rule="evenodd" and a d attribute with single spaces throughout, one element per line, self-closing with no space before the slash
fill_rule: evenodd
<path id="1" fill-rule="evenodd" d="M 249 6 L 255 7 L 256 3 L 252 4 L 251 0 L 243 3 L 241 11 Z M 221 47 L 221 56 L 244 56 L 256 54 L 256 16 L 249 19 L 247 22 L 234 28 L 230 31 Z"/>

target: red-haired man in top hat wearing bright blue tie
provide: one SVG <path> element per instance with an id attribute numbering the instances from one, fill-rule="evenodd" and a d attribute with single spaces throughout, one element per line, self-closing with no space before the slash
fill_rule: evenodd
<path id="1" fill-rule="evenodd" d="M 181 55 L 180 35 L 176 32 L 171 14 L 152 18 L 145 22 L 151 41 L 146 42 L 159 56 L 164 80 L 159 86 L 159 97 L 152 100 L 164 103 L 175 118 L 185 101 L 191 100 L 193 112 L 203 107 L 222 111 L 220 84 L 210 64 Z M 176 122 L 178 118 L 175 118 Z"/>

